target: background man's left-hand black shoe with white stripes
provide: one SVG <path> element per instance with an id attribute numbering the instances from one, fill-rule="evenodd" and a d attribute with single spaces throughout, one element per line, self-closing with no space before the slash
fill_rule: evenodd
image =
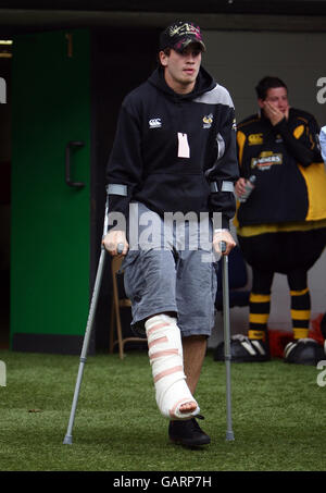
<path id="1" fill-rule="evenodd" d="M 242 334 L 230 338 L 230 357 L 233 362 L 263 362 L 269 361 L 269 348 L 261 340 L 251 340 Z M 220 343 L 214 350 L 214 361 L 224 361 L 224 343 Z"/>

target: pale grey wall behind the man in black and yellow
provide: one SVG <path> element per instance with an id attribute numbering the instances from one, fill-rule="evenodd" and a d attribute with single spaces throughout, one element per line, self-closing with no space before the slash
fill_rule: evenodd
<path id="1" fill-rule="evenodd" d="M 204 39 L 208 51 L 203 66 L 230 91 L 238 122 L 256 111 L 256 83 L 265 75 L 276 75 L 288 85 L 291 106 L 311 112 L 321 125 L 326 124 L 326 103 L 318 103 L 316 98 L 317 81 L 326 77 L 325 34 L 206 30 Z M 325 279 L 326 250 L 309 272 L 312 319 L 326 311 Z M 289 306 L 286 276 L 276 274 L 272 286 L 271 329 L 291 330 Z M 233 334 L 247 334 L 248 317 L 248 307 L 230 310 Z M 209 346 L 214 347 L 222 338 L 223 321 L 217 313 Z"/>

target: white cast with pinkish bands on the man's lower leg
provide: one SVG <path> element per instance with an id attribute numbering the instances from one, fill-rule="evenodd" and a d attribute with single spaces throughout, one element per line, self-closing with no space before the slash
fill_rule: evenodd
<path id="1" fill-rule="evenodd" d="M 156 315 L 145 323 L 156 404 L 168 419 L 188 419 L 199 406 L 189 391 L 184 373 L 183 344 L 176 319 Z"/>

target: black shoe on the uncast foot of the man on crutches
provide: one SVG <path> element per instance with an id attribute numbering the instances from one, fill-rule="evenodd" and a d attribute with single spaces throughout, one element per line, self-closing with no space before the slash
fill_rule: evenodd
<path id="1" fill-rule="evenodd" d="M 197 417 L 203 419 L 203 417 Z M 211 443 L 210 436 L 202 431 L 196 418 L 170 421 L 168 436 L 174 443 L 195 447 Z"/>

